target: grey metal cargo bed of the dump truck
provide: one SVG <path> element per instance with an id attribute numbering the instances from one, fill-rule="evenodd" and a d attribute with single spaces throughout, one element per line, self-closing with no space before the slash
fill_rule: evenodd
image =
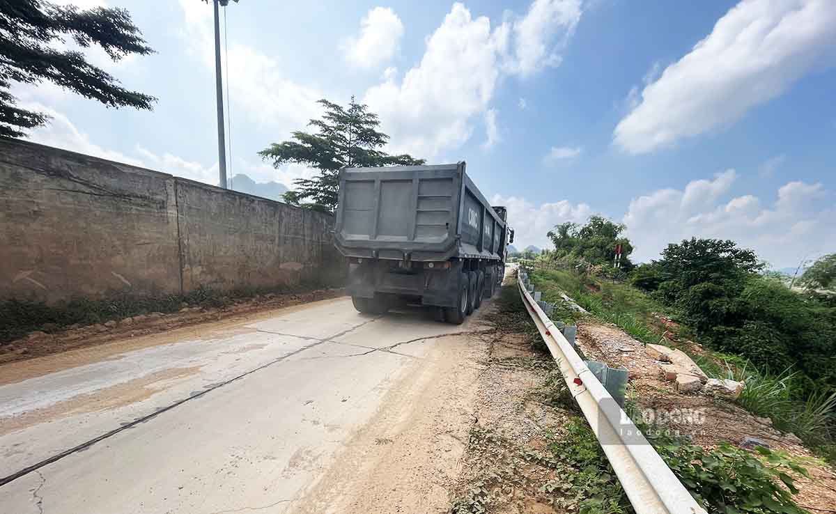
<path id="1" fill-rule="evenodd" d="M 502 260 L 505 222 L 465 163 L 345 168 L 335 243 L 346 257 Z"/>

